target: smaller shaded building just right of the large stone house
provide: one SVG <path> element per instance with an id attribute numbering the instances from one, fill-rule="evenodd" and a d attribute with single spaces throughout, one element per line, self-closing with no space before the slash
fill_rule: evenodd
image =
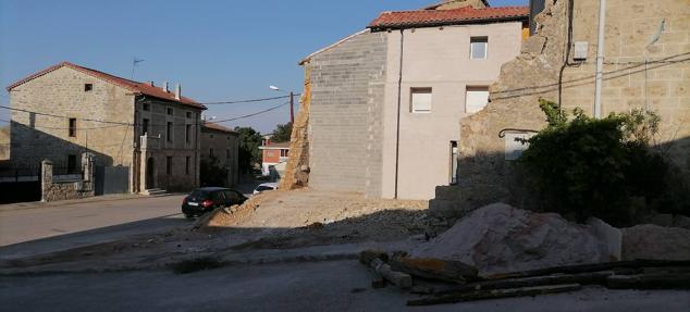
<path id="1" fill-rule="evenodd" d="M 219 124 L 205 122 L 201 127 L 201 159 L 207 161 L 213 159 L 219 166 L 227 170 L 224 186 L 237 184 L 238 158 L 239 135 Z"/>

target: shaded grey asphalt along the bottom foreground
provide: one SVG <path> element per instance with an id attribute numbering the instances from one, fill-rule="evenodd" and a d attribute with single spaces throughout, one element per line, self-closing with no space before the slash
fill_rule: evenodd
<path id="1" fill-rule="evenodd" d="M 552 296 L 405 307 L 395 287 L 372 289 L 358 261 L 170 271 L 0 276 L 8 311 L 688 311 L 690 292 L 587 288 Z M 2 310 L 2 308 L 0 308 Z"/>

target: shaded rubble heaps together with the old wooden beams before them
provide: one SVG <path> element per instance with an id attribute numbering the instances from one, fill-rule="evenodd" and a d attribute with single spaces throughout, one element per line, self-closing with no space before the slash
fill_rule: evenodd
<path id="1" fill-rule="evenodd" d="M 650 244 L 660 233 L 670 244 Z M 690 230 L 683 228 L 618 230 L 601 221 L 579 225 L 558 214 L 498 203 L 475 211 L 409 252 L 368 250 L 360 262 L 372 272 L 372 287 L 393 284 L 426 296 L 408 305 L 567 292 L 586 285 L 690 289 L 688 237 Z M 626 258 L 650 255 L 643 252 L 645 245 L 660 253 Z"/>

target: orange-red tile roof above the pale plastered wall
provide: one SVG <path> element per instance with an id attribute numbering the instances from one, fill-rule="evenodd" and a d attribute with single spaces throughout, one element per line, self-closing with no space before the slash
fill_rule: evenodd
<path id="1" fill-rule="evenodd" d="M 466 7 L 453 10 L 383 12 L 369 24 L 368 28 L 381 30 L 391 28 L 434 27 L 498 21 L 527 21 L 528 17 L 528 7 L 482 9 Z"/>

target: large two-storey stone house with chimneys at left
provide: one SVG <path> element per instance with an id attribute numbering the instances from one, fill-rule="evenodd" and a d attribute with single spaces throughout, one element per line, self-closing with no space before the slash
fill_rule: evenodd
<path id="1" fill-rule="evenodd" d="M 173 92 L 167 83 L 158 87 L 63 62 L 7 89 L 13 165 L 47 159 L 79 167 L 78 155 L 88 152 L 97 172 L 128 169 L 124 183 L 132 192 L 199 185 L 206 108 L 183 97 L 178 86 Z"/>

